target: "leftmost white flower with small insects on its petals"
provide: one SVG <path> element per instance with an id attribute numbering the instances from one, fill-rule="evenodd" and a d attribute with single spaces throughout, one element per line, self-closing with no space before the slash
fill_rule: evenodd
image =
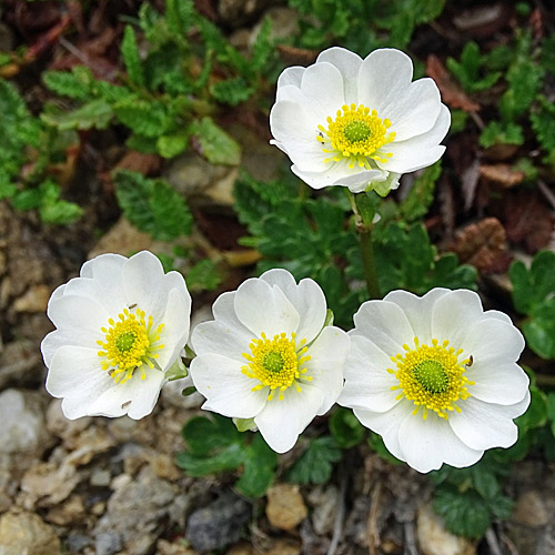
<path id="1" fill-rule="evenodd" d="M 183 276 L 164 275 L 150 252 L 85 262 L 48 304 L 57 327 L 41 345 L 48 392 L 63 397 L 68 418 L 142 418 L 188 340 L 190 312 Z"/>

